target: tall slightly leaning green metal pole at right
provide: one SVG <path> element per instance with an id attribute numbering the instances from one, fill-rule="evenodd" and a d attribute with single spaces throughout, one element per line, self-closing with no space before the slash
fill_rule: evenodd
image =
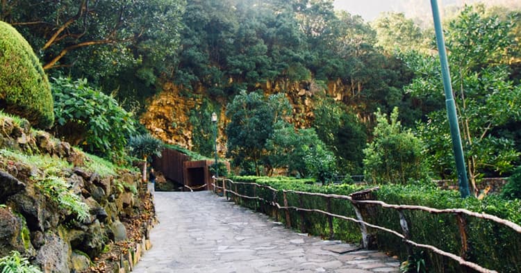
<path id="1" fill-rule="evenodd" d="M 465 169 L 465 158 L 463 158 L 463 147 L 461 145 L 458 116 L 456 115 L 456 104 L 454 103 L 454 95 L 452 94 L 449 62 L 447 60 L 447 51 L 445 51 L 445 40 L 443 38 L 443 30 L 441 28 L 438 1 L 431 0 L 431 7 L 432 16 L 434 19 L 434 30 L 436 31 L 436 43 L 438 44 L 438 53 L 440 54 L 443 89 L 445 90 L 445 106 L 447 106 L 447 116 L 449 118 L 450 134 L 452 137 L 452 149 L 454 150 L 456 170 L 458 172 L 459 192 L 461 197 L 465 198 L 470 195 L 470 190 L 468 188 L 467 171 Z"/>

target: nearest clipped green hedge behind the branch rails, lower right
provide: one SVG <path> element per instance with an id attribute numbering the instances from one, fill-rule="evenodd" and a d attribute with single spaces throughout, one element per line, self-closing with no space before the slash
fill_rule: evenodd
<path id="1" fill-rule="evenodd" d="M 476 198 L 461 199 L 458 192 L 438 190 L 425 185 L 383 185 L 375 192 L 376 198 L 388 204 L 408 204 L 431 208 L 465 208 L 477 213 L 488 213 L 502 219 L 521 224 L 521 201 L 506 201 L 497 195 L 490 195 L 483 200 Z M 461 238 L 455 215 L 431 214 L 423 211 L 404 210 L 410 225 L 411 240 L 433 245 L 444 251 L 458 254 L 461 251 Z M 521 260 L 521 236 L 512 229 L 488 220 L 465 217 L 468 227 L 470 251 L 465 257 L 479 265 L 498 272 L 519 272 Z M 377 208 L 374 216 L 368 220 L 372 224 L 401 231 L 399 216 L 395 210 Z M 374 231 L 377 234 L 379 248 L 407 257 L 402 240 L 395 235 Z M 427 267 L 433 272 L 461 272 L 455 262 L 426 252 Z"/>

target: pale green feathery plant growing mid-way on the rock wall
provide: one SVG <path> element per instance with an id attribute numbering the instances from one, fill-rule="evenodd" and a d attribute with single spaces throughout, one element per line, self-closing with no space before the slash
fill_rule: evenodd
<path id="1" fill-rule="evenodd" d="M 87 204 L 83 203 L 80 197 L 75 195 L 72 190 L 69 190 L 65 179 L 57 176 L 49 176 L 38 181 L 37 185 L 49 195 L 51 200 L 56 202 L 60 208 L 74 213 L 78 221 L 83 222 L 90 216 Z"/>

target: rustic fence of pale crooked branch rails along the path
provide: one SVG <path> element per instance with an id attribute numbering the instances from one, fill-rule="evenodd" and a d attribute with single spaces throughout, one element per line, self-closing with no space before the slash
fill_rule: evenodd
<path id="1" fill-rule="evenodd" d="M 220 182 L 220 185 L 217 185 Z M 351 195 L 331 195 L 331 194 L 323 194 L 319 192 L 301 192 L 296 190 L 276 190 L 275 188 L 270 187 L 269 185 L 261 185 L 258 183 L 245 183 L 245 182 L 234 182 L 230 179 L 215 179 L 214 183 L 212 184 L 214 191 L 222 192 L 222 195 L 226 197 L 226 199 L 233 198 L 233 201 L 235 203 L 238 202 L 238 198 L 242 199 L 249 199 L 249 200 L 258 200 L 262 201 L 265 204 L 269 204 L 270 206 L 276 207 L 279 211 L 283 211 L 285 220 L 286 220 L 286 226 L 288 228 L 291 227 L 291 221 L 290 221 L 290 210 L 295 210 L 296 212 L 301 213 L 302 219 L 304 219 L 304 212 L 313 212 L 313 213 L 320 213 L 322 215 L 326 215 L 328 217 L 328 226 L 329 226 L 329 233 L 330 235 L 333 235 L 333 218 L 338 218 L 341 220 L 346 220 L 349 222 L 357 223 L 360 226 L 360 231 L 362 234 L 362 244 L 363 247 L 368 247 L 368 233 L 367 233 L 367 227 L 370 227 L 372 229 L 378 229 L 379 231 L 384 231 L 386 233 L 390 233 L 392 235 L 397 236 L 402 240 L 402 242 L 405 242 L 408 245 L 411 245 L 413 247 L 418 247 L 422 249 L 429 249 L 429 251 L 433 251 L 436 254 L 439 254 L 441 256 L 445 256 L 447 258 L 450 258 L 452 260 L 455 260 L 460 265 L 465 265 L 466 267 L 472 268 L 473 270 L 476 270 L 477 272 L 482 273 L 490 273 L 490 272 L 497 272 L 495 270 L 489 270 L 485 267 L 481 267 L 480 265 L 477 265 L 476 263 L 472 263 L 468 260 L 465 260 L 463 257 L 466 256 L 466 251 L 468 250 L 468 242 L 467 238 L 468 235 L 467 229 L 465 227 L 465 220 L 463 218 L 463 215 L 468 215 L 470 217 L 477 217 L 483 220 L 489 220 L 492 222 L 495 222 L 497 224 L 502 224 L 504 226 L 507 226 L 508 228 L 512 229 L 513 231 L 517 233 L 521 233 L 521 226 L 518 224 L 515 224 L 511 221 L 504 220 L 502 218 L 499 218 L 494 215 L 489 215 L 486 213 L 474 213 L 470 210 L 465 210 L 462 208 L 454 208 L 454 209 L 437 209 L 437 208 L 429 208 L 427 206 L 411 206 L 411 205 L 395 205 L 395 204 L 386 204 L 383 201 L 377 201 L 377 200 L 367 200 L 367 197 L 371 195 L 372 192 L 375 190 L 378 190 L 379 188 L 371 188 L 368 190 L 363 190 L 360 192 L 354 192 Z M 246 195 L 244 192 L 240 193 L 238 190 L 238 185 L 251 187 L 254 191 L 254 196 Z M 233 189 L 232 189 L 233 188 Z M 265 189 L 271 191 L 271 200 L 265 199 L 263 197 L 258 196 L 257 189 Z M 245 191 L 245 190 L 243 190 Z M 292 193 L 299 196 L 299 206 L 290 206 L 288 204 L 288 193 Z M 282 194 L 283 197 L 283 205 L 279 204 L 277 199 Z M 231 197 L 233 196 L 233 197 Z M 326 199 L 327 204 L 327 210 L 321 210 L 318 208 L 304 208 L 302 198 L 303 196 L 313 196 L 313 197 L 321 197 L 323 199 Z M 338 215 L 335 213 L 331 213 L 331 199 L 340 199 L 340 200 L 347 200 L 350 204 L 352 204 L 356 219 L 354 217 L 347 217 L 345 215 Z M 399 213 L 399 223 L 402 228 L 402 233 L 399 233 L 397 231 L 394 231 L 392 229 L 388 229 L 383 226 L 378 226 L 375 224 L 371 224 L 369 222 L 366 222 L 363 219 L 363 210 L 365 210 L 367 205 L 371 206 L 380 206 L 381 208 L 390 208 L 392 210 L 397 210 Z M 414 242 L 410 239 L 409 235 L 409 229 L 408 229 L 408 222 L 404 216 L 403 211 L 404 210 L 421 210 L 427 213 L 432 214 L 452 214 L 456 215 L 458 226 L 459 226 L 459 232 L 461 235 L 461 244 L 462 244 L 462 253 L 461 256 L 458 256 L 456 254 L 449 253 L 447 251 L 443 251 L 442 249 L 438 249 L 437 247 L 434 247 L 432 245 L 425 245 L 418 242 Z"/>

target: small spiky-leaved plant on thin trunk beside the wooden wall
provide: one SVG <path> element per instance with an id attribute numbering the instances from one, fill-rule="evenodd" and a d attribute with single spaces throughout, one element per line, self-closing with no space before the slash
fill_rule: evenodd
<path id="1" fill-rule="evenodd" d="M 147 181 L 147 158 L 149 156 L 161 156 L 165 144 L 148 133 L 131 136 L 129 151 L 136 158 L 143 158 L 142 181 Z"/>

